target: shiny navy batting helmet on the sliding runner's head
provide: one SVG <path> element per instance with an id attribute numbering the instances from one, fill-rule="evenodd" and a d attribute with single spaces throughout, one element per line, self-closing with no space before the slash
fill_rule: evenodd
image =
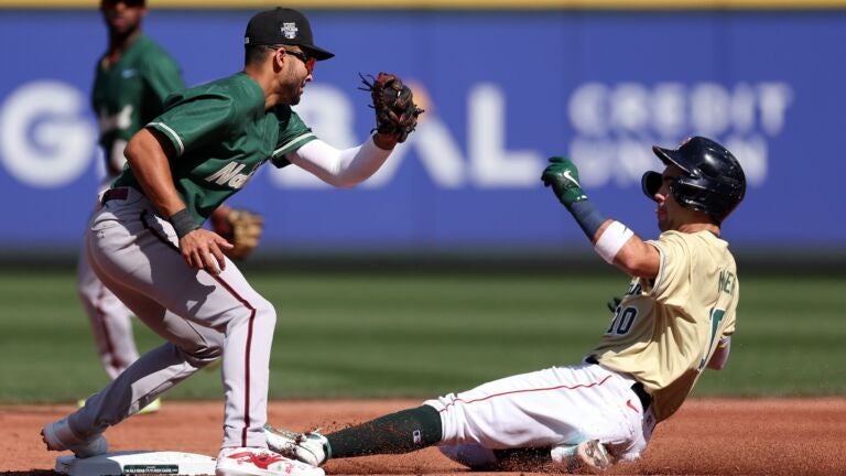
<path id="1" fill-rule="evenodd" d="M 665 165 L 677 165 L 683 174 L 670 191 L 683 207 L 707 213 L 717 224 L 737 207 L 746 194 L 746 175 L 731 152 L 711 139 L 693 137 L 679 149 L 653 145 Z M 654 199 L 661 174 L 647 172 L 640 181 L 643 193 Z"/>

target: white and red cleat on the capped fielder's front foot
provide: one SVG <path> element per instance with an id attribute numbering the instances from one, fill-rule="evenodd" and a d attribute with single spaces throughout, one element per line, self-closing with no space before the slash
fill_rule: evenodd
<path id="1" fill-rule="evenodd" d="M 323 469 L 258 447 L 226 447 L 217 455 L 217 476 L 324 476 Z"/>

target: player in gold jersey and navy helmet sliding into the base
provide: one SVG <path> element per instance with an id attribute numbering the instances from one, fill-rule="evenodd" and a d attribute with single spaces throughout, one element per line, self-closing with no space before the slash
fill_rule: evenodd
<path id="1" fill-rule="evenodd" d="M 315 466 L 429 445 L 476 469 L 596 470 L 638 458 L 703 370 L 726 361 L 740 290 L 720 223 L 746 188 L 737 160 L 709 139 L 653 150 L 665 169 L 642 180 L 662 231 L 650 241 L 594 207 L 570 160 L 552 158 L 543 171 L 597 253 L 632 277 L 581 365 L 507 377 L 327 435 L 265 428 L 270 447 Z"/>

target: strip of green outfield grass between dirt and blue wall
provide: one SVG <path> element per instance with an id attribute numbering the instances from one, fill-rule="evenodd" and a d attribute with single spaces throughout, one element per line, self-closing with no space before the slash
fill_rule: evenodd
<path id="1" fill-rule="evenodd" d="M 278 307 L 271 398 L 434 397 L 577 363 L 628 280 L 601 275 L 249 273 Z M 741 275 L 727 368 L 696 394 L 846 394 L 846 278 Z M 107 381 L 66 272 L 0 271 L 0 402 L 62 402 Z M 137 325 L 142 349 L 158 337 Z M 220 398 L 203 371 L 169 398 Z"/>

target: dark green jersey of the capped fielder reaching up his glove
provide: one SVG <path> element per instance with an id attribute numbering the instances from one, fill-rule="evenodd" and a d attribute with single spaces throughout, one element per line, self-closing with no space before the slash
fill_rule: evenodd
<path id="1" fill-rule="evenodd" d="M 198 224 L 238 192 L 264 162 L 283 167 L 284 154 L 316 139 L 290 106 L 264 109 L 264 91 L 245 73 L 167 98 L 147 125 L 173 144 L 173 183 Z M 143 193 L 127 167 L 115 186 Z"/>

